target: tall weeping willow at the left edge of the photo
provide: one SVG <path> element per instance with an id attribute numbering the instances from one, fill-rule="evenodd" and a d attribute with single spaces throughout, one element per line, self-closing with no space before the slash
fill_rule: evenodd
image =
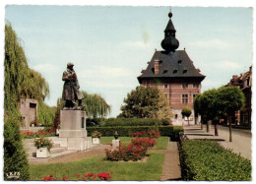
<path id="1" fill-rule="evenodd" d="M 5 26 L 5 85 L 4 108 L 17 110 L 21 97 L 43 101 L 49 94 L 45 79 L 29 68 L 21 40 L 11 25 Z"/>

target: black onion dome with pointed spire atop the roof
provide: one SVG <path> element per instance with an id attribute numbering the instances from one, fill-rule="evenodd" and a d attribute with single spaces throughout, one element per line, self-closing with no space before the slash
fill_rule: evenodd
<path id="1" fill-rule="evenodd" d="M 166 51 L 166 52 L 174 52 L 175 49 L 178 48 L 179 42 L 175 37 L 175 28 L 172 24 L 171 17 L 172 13 L 169 12 L 168 14 L 169 17 L 169 22 L 164 30 L 164 39 L 161 41 L 161 47 Z"/>

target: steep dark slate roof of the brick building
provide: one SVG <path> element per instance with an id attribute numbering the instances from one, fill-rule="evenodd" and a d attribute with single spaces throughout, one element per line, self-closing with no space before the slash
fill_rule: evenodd
<path id="1" fill-rule="evenodd" d="M 154 73 L 155 60 L 160 60 L 159 74 Z M 175 71 L 174 71 L 175 70 Z M 185 71 L 186 70 L 186 71 Z M 199 78 L 203 81 L 206 76 L 200 74 L 190 60 L 185 50 L 176 50 L 172 55 L 157 50 L 146 70 L 138 77 L 139 82 L 145 78 Z"/>

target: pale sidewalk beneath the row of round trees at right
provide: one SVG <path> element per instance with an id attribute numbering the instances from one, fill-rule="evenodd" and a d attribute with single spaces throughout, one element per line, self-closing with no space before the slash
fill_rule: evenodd
<path id="1" fill-rule="evenodd" d="M 219 126 L 220 127 L 220 126 Z M 220 127 L 219 136 L 215 136 L 215 128 L 210 125 L 210 131 L 207 133 L 206 125 L 204 125 L 203 130 L 201 126 L 191 125 L 183 126 L 184 134 L 188 139 L 213 139 L 219 140 L 219 143 L 226 149 L 231 149 L 233 153 L 240 153 L 241 156 L 251 160 L 251 137 L 246 137 L 243 135 L 236 134 L 232 131 L 232 142 L 229 142 L 229 132 L 222 130 Z"/>

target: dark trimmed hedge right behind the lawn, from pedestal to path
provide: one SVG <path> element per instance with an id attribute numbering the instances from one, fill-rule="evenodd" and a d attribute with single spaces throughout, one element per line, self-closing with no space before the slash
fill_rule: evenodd
<path id="1" fill-rule="evenodd" d="M 102 136 L 113 136 L 117 131 L 120 137 L 129 136 L 129 133 L 156 130 L 155 126 L 135 126 L 135 127 L 87 127 L 88 135 L 91 136 L 94 131 L 98 131 Z M 181 126 L 160 126 L 160 136 L 170 137 L 172 141 L 177 141 L 178 132 L 183 131 Z"/>

